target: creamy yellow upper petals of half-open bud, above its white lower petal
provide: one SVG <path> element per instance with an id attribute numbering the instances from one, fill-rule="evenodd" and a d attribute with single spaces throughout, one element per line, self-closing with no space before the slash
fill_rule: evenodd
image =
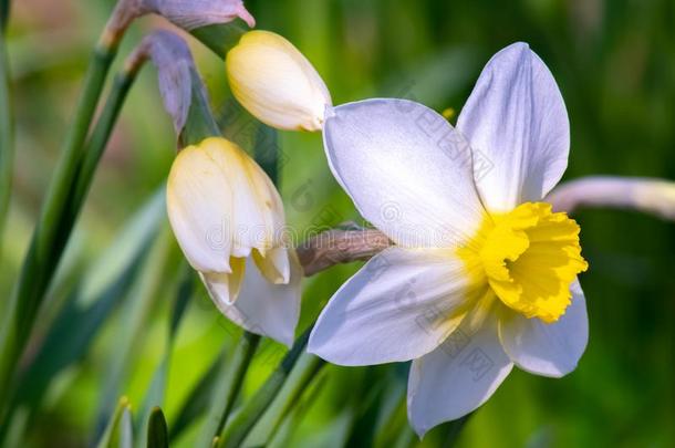
<path id="1" fill-rule="evenodd" d="M 207 138 L 178 154 L 167 184 L 167 211 L 190 264 L 219 278 L 232 301 L 238 290 L 232 285 L 240 279 L 219 274 L 242 275 L 236 271 L 251 252 L 264 260 L 259 265 L 276 267 L 266 275 L 272 283 L 288 282 L 281 198 L 258 164 L 233 143 Z"/>

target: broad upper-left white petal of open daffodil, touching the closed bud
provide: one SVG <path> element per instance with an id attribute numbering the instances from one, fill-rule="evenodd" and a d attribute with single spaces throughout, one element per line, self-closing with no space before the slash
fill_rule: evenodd
<path id="1" fill-rule="evenodd" d="M 471 150 L 436 112 L 405 100 L 341 105 L 326 113 L 323 142 L 361 215 L 399 246 L 451 247 L 472 236 L 484 211 Z"/>

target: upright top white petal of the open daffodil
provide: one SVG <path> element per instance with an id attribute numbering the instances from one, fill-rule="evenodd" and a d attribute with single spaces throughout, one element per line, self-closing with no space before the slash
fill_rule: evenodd
<path id="1" fill-rule="evenodd" d="M 570 124 L 549 69 L 526 43 L 486 65 L 457 119 L 474 149 L 476 185 L 488 210 L 538 201 L 568 165 Z"/>

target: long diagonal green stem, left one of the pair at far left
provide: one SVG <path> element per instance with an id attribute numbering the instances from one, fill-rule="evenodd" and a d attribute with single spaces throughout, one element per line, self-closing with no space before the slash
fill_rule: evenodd
<path id="1" fill-rule="evenodd" d="M 13 378 L 44 292 L 68 241 L 70 228 L 63 226 L 64 215 L 69 210 L 69 198 L 83 159 L 84 140 L 122 34 L 123 30 L 106 28 L 92 55 L 73 125 L 65 138 L 61 158 L 10 299 L 0 334 L 0 384 L 3 385 L 0 388 L 0 406 L 4 406 L 7 402 L 7 394 L 11 388 L 8 385 Z"/>

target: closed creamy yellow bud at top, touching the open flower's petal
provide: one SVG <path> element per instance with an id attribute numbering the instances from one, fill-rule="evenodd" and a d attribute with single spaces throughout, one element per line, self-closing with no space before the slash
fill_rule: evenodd
<path id="1" fill-rule="evenodd" d="M 226 58 L 232 94 L 262 123 L 280 129 L 321 131 L 332 105 L 312 64 L 279 34 L 249 31 Z"/>

